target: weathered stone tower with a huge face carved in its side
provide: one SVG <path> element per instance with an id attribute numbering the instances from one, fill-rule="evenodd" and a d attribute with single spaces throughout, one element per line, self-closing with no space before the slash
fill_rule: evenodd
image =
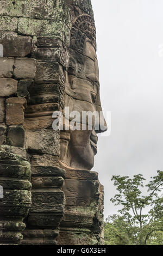
<path id="1" fill-rule="evenodd" d="M 103 244 L 105 127 L 52 127 L 65 107 L 102 110 L 91 1 L 1 0 L 0 44 L 0 244 Z"/>

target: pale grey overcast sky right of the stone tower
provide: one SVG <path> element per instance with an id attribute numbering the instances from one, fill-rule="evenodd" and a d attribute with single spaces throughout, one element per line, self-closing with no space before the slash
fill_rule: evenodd
<path id="1" fill-rule="evenodd" d="M 163 169 L 162 0 L 92 0 L 101 101 L 111 136 L 100 137 L 95 167 L 104 185 L 104 216 L 117 212 L 112 175 Z M 163 51 L 162 51 L 163 52 Z M 162 54 L 163 55 L 163 54 Z"/>

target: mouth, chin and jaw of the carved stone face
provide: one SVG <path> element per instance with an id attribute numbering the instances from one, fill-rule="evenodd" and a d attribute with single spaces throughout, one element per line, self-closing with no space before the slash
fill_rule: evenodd
<path id="1" fill-rule="evenodd" d="M 61 165 L 66 164 L 66 168 L 71 169 L 91 170 L 97 154 L 97 141 L 95 131 L 71 131 L 71 138 L 70 133 L 66 136 L 64 132 L 61 136 Z"/>

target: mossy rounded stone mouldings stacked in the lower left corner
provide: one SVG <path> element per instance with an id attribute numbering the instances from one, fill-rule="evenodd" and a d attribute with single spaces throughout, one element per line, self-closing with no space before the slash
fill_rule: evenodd
<path id="1" fill-rule="evenodd" d="M 0 182 L 3 199 L 0 199 L 0 244 L 18 245 L 26 227 L 23 218 L 31 205 L 30 163 L 24 150 L 0 146 Z"/>

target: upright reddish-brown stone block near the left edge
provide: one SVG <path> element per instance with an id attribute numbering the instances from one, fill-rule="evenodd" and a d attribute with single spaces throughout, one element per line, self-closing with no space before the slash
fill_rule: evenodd
<path id="1" fill-rule="evenodd" d="M 26 99 L 10 97 L 5 101 L 7 125 L 22 125 L 24 121 L 24 105 Z"/>

